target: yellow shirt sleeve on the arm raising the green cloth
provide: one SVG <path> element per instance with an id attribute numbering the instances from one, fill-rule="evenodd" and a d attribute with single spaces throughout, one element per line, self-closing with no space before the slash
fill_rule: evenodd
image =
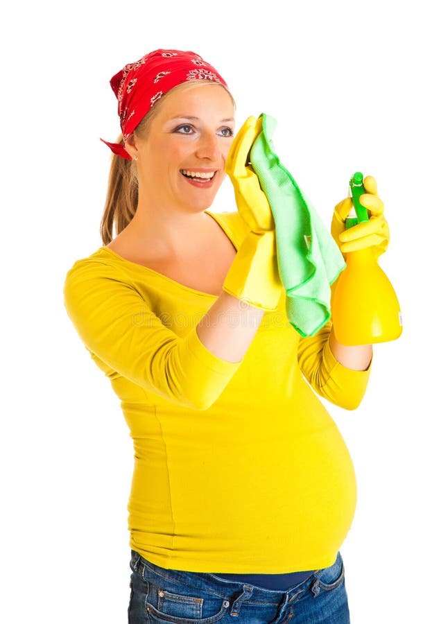
<path id="1" fill-rule="evenodd" d="M 107 263 L 77 261 L 64 281 L 64 305 L 85 347 L 126 379 L 175 404 L 206 410 L 240 363 L 221 360 L 198 338 L 181 338 Z"/>

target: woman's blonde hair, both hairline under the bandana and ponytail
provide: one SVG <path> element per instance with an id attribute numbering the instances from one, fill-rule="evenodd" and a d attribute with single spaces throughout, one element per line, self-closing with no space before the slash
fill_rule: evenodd
<path id="1" fill-rule="evenodd" d="M 139 138 L 146 138 L 150 130 L 150 125 L 159 112 L 159 108 L 162 102 L 166 99 L 169 93 L 174 89 L 180 89 L 181 87 L 190 87 L 198 85 L 216 85 L 216 83 L 210 80 L 196 80 L 192 83 L 182 83 L 177 87 L 173 87 L 164 96 L 162 96 L 157 104 L 151 108 L 144 118 L 140 121 L 135 128 L 134 133 Z M 221 85 L 223 87 L 223 85 Z M 223 87 L 232 99 L 232 103 L 235 107 L 234 98 L 232 94 Z M 116 143 L 124 144 L 122 135 L 116 139 Z M 100 235 L 103 241 L 103 245 L 110 243 L 113 238 L 113 230 L 116 230 L 116 234 L 120 234 L 123 229 L 126 228 L 130 220 L 132 220 L 138 206 L 138 177 L 137 166 L 132 160 L 122 158 L 116 154 L 112 155 L 112 164 L 110 165 L 109 182 L 107 184 L 107 193 L 105 199 L 105 206 L 103 210 L 103 216 L 100 223 Z"/>

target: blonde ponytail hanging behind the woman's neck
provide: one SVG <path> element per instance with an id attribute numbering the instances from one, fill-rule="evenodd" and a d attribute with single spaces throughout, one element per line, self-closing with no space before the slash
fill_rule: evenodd
<path id="1" fill-rule="evenodd" d="M 116 143 L 123 145 L 119 135 Z M 138 205 L 138 178 L 132 160 L 112 155 L 105 207 L 100 224 L 103 245 L 114 238 L 113 228 L 119 234 L 132 220 Z"/>

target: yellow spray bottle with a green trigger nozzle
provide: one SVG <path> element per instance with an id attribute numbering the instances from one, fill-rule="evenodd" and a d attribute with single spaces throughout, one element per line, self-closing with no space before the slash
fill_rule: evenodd
<path id="1" fill-rule="evenodd" d="M 363 174 L 354 173 L 349 185 L 357 218 L 347 218 L 345 227 L 368 221 L 368 211 L 359 201 L 365 193 Z M 399 338 L 402 318 L 394 288 L 380 268 L 372 248 L 345 254 L 346 268 L 338 277 L 332 297 L 332 320 L 341 345 L 370 345 Z"/>

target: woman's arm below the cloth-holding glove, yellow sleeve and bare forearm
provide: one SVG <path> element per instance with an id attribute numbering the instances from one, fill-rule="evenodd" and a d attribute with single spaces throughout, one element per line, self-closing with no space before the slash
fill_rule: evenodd
<path id="1" fill-rule="evenodd" d="M 144 390 L 205 410 L 238 369 L 265 311 L 223 292 L 181 338 L 151 311 L 116 268 L 77 261 L 64 303 L 87 349 Z"/>

